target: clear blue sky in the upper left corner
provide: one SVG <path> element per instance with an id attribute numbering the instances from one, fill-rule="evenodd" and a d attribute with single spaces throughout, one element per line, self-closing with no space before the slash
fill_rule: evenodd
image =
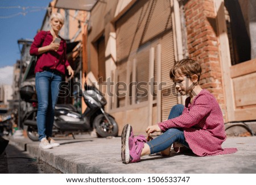
<path id="1" fill-rule="evenodd" d="M 19 60 L 17 41 L 33 39 L 51 0 L 0 0 L 0 68 Z M 14 7 L 26 7 L 14 8 Z"/>

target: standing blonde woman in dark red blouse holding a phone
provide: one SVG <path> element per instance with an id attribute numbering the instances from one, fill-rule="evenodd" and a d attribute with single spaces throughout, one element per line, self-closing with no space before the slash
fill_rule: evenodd
<path id="1" fill-rule="evenodd" d="M 59 146 L 52 139 L 54 108 L 57 102 L 60 82 L 65 77 L 65 69 L 71 78 L 74 75 L 66 57 L 66 41 L 59 36 L 64 17 L 53 13 L 50 17 L 51 29 L 36 34 L 30 54 L 38 56 L 35 66 L 36 93 L 38 95 L 37 125 L 39 148 L 49 149 Z"/>

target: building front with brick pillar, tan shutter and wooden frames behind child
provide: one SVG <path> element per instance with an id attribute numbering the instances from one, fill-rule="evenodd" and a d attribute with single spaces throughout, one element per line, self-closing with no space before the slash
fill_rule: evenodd
<path id="1" fill-rule="evenodd" d="M 82 73 L 106 94 L 119 133 L 126 123 L 143 133 L 184 103 L 169 70 L 187 57 L 200 62 L 200 85 L 218 100 L 225 123 L 256 120 L 255 0 L 91 2 Z"/>

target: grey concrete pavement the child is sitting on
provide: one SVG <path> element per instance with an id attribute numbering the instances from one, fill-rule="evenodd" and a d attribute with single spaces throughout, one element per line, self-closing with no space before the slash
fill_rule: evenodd
<path id="1" fill-rule="evenodd" d="M 121 161 L 121 137 L 97 138 L 89 134 L 56 137 L 60 146 L 42 150 L 39 142 L 24 137 L 9 137 L 9 144 L 28 151 L 63 173 L 111 174 L 175 174 L 175 173 L 256 173 L 256 136 L 228 137 L 223 148 L 237 148 L 228 155 L 196 157 L 191 154 L 171 153 L 144 156 L 141 162 L 125 165 Z"/>

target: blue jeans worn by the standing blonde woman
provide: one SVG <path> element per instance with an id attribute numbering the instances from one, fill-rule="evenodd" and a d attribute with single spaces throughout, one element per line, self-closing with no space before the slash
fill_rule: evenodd
<path id="1" fill-rule="evenodd" d="M 36 94 L 38 95 L 36 123 L 38 125 L 39 141 L 44 137 L 52 136 L 54 108 L 61 81 L 62 77 L 52 72 L 43 71 L 36 73 L 35 85 Z"/>

